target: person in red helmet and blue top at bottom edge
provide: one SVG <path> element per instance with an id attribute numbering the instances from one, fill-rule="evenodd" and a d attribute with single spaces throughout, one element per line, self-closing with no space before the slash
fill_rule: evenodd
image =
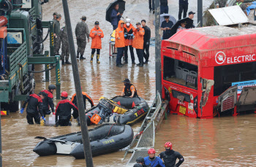
<path id="1" fill-rule="evenodd" d="M 156 157 L 155 155 L 156 155 L 156 151 L 153 148 L 148 149 L 148 157 L 144 158 L 145 165 L 151 166 L 151 167 L 157 167 L 157 166 L 165 167 L 165 165 L 162 163 L 161 158 Z"/>

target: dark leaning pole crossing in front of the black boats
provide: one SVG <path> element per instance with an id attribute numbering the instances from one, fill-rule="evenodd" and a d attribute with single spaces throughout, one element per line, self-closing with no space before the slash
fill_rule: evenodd
<path id="1" fill-rule="evenodd" d="M 91 155 L 91 144 L 89 140 L 89 133 L 86 123 L 86 112 L 84 110 L 83 105 L 83 95 L 80 85 L 80 77 L 79 77 L 79 71 L 78 71 L 78 63 L 76 61 L 76 55 L 75 55 L 75 44 L 72 34 L 72 27 L 70 22 L 70 16 L 69 16 L 69 7 L 67 4 L 67 0 L 62 0 L 63 4 L 63 10 L 64 10 L 64 16 L 65 16 L 65 23 L 67 28 L 67 37 L 69 39 L 69 50 L 70 50 L 70 57 L 72 62 L 72 71 L 74 76 L 74 82 L 75 82 L 75 93 L 77 95 L 77 101 L 78 101 L 78 112 L 79 112 L 79 118 L 80 118 L 80 125 L 81 125 L 81 131 L 82 131 L 82 139 L 83 139 L 83 152 L 86 158 L 86 166 L 87 167 L 93 167 L 94 163 L 92 160 Z"/>

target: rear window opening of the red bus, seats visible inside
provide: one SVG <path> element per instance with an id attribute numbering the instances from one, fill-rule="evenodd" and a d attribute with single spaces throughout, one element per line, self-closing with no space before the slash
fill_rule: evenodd
<path id="1" fill-rule="evenodd" d="M 197 66 L 164 57 L 164 79 L 179 85 L 197 89 Z"/>

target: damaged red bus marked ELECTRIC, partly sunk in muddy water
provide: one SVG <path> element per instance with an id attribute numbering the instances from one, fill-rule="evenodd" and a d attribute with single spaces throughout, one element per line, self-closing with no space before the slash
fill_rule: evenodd
<path id="1" fill-rule="evenodd" d="M 238 104 L 246 105 L 236 96 L 238 88 L 256 85 L 256 26 L 179 31 L 162 41 L 161 56 L 162 98 L 170 101 L 171 113 L 211 118 L 220 105 L 221 112 L 236 112 Z M 255 111 L 255 101 L 239 112 Z"/>

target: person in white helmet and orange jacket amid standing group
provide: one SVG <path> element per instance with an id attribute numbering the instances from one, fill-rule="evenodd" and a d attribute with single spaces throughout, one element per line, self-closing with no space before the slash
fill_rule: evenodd
<path id="1" fill-rule="evenodd" d="M 129 48 L 129 53 L 131 54 L 131 58 L 132 58 L 132 64 L 135 64 L 135 54 L 133 53 L 133 47 L 132 47 L 134 29 L 135 27 L 132 26 L 131 20 L 127 18 L 127 20 L 125 20 L 125 25 L 124 25 L 124 38 L 125 38 L 124 62 L 125 63 L 128 63 L 128 48 Z"/>

